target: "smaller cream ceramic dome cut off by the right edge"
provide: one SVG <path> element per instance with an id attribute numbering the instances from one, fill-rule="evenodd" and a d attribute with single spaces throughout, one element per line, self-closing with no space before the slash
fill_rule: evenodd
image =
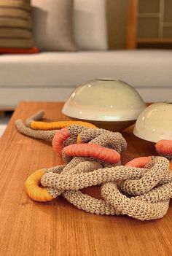
<path id="1" fill-rule="evenodd" d="M 172 104 L 159 102 L 139 115 L 133 133 L 146 141 L 172 139 Z"/>

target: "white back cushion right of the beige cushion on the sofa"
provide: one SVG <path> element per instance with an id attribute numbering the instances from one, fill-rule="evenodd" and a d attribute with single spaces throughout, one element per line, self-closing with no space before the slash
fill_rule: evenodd
<path id="1" fill-rule="evenodd" d="M 74 0 L 74 36 L 81 50 L 106 50 L 106 0 Z"/>

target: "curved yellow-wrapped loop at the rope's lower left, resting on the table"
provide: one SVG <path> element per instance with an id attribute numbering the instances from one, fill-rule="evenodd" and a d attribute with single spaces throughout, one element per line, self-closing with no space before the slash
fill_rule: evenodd
<path id="1" fill-rule="evenodd" d="M 52 201 L 53 197 L 47 192 L 46 188 L 39 187 L 40 180 L 44 175 L 44 170 L 37 170 L 34 174 L 31 174 L 28 179 L 26 179 L 25 187 L 26 192 L 31 199 L 38 202 Z"/>

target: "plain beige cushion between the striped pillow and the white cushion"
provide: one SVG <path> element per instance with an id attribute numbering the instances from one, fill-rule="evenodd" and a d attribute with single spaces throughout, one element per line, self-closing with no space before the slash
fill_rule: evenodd
<path id="1" fill-rule="evenodd" d="M 72 0 L 33 0 L 34 40 L 40 50 L 77 50 Z"/>

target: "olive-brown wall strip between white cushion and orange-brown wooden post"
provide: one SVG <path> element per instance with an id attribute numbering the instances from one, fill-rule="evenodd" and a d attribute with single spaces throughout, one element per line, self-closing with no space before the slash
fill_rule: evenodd
<path id="1" fill-rule="evenodd" d="M 128 0 L 106 0 L 109 49 L 126 48 Z"/>

